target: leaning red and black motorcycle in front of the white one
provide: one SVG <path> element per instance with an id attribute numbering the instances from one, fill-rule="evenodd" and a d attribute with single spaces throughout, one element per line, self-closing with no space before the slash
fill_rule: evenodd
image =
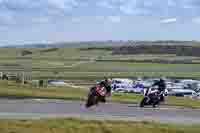
<path id="1" fill-rule="evenodd" d="M 99 102 L 105 102 L 105 97 L 107 95 L 106 89 L 100 85 L 92 87 L 88 94 L 88 99 L 86 101 L 86 108 L 93 105 L 98 105 Z"/>

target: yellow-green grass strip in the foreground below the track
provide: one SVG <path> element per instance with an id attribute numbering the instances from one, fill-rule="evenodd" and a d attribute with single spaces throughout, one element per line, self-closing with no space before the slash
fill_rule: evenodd
<path id="1" fill-rule="evenodd" d="M 78 119 L 0 120 L 1 133 L 199 133 L 199 125 Z"/>

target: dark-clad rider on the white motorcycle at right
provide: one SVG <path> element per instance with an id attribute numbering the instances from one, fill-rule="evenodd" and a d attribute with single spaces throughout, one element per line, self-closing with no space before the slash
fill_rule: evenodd
<path id="1" fill-rule="evenodd" d="M 166 89 L 165 79 L 163 77 L 160 78 L 158 81 L 156 81 L 152 85 L 152 87 L 154 87 L 154 86 L 158 86 L 159 95 L 161 96 L 160 101 L 164 102 L 165 101 L 164 92 L 165 92 L 165 89 Z"/>

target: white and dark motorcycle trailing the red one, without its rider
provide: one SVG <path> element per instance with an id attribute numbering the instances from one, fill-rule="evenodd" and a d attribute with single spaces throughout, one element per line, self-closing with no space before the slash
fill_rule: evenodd
<path id="1" fill-rule="evenodd" d="M 140 107 L 144 107 L 145 105 L 152 105 L 155 108 L 162 101 L 163 93 L 159 93 L 158 90 L 153 90 L 153 88 L 149 88 L 145 93 L 144 98 L 140 102 Z"/>

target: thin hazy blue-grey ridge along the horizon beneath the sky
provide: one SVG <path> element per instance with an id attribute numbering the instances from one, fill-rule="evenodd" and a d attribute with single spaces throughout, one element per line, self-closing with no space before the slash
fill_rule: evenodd
<path id="1" fill-rule="evenodd" d="M 60 43 L 40 43 L 40 44 L 23 44 L 7 45 L 1 48 L 70 48 L 70 47 L 94 47 L 94 46 L 118 46 L 118 45 L 194 45 L 199 44 L 197 41 L 88 41 L 88 42 L 60 42 Z"/>

